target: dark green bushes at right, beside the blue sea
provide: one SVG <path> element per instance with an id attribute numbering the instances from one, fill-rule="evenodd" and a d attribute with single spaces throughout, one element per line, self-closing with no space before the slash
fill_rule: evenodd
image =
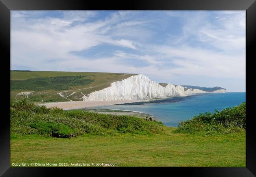
<path id="1" fill-rule="evenodd" d="M 246 129 L 246 103 L 226 108 L 215 113 L 205 112 L 194 116 L 191 120 L 180 122 L 176 132 L 180 133 L 231 133 Z"/>

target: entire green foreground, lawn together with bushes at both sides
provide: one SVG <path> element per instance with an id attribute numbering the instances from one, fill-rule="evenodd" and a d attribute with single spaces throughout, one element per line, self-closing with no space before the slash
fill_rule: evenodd
<path id="1" fill-rule="evenodd" d="M 241 114 L 243 106 L 245 103 L 217 112 L 215 119 L 219 115 Z M 28 163 L 28 166 L 31 163 L 45 166 L 50 166 L 46 163 L 57 163 L 57 166 L 115 163 L 119 167 L 246 166 L 245 131 L 193 129 L 195 121 L 182 123 L 188 128 L 176 129 L 152 119 L 49 109 L 26 100 L 11 103 L 10 111 L 11 166 L 17 163 Z M 233 114 L 235 112 L 237 114 Z M 199 117 L 204 121 L 206 117 L 213 119 L 210 113 Z M 241 118 L 243 120 L 243 116 Z M 196 119 L 198 116 L 192 120 Z M 239 116 L 237 119 L 230 116 L 228 120 L 244 125 Z M 210 126 L 204 121 L 198 120 L 195 125 Z"/>

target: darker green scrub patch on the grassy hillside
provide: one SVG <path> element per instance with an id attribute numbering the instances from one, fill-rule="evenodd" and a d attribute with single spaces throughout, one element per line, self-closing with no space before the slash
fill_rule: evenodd
<path id="1" fill-rule="evenodd" d="M 11 90 L 69 90 L 74 86 L 86 86 L 93 79 L 86 76 L 39 77 L 27 80 L 11 80 Z"/>

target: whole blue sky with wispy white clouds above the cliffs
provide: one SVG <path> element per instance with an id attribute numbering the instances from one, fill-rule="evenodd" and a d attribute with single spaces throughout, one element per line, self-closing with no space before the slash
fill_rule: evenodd
<path id="1" fill-rule="evenodd" d="M 11 70 L 136 73 L 245 92 L 245 11 L 11 11 Z"/>

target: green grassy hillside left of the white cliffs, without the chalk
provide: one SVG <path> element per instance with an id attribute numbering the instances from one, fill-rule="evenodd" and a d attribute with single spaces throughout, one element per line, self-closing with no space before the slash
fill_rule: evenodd
<path id="1" fill-rule="evenodd" d="M 133 75 L 135 74 L 15 70 L 10 72 L 11 100 L 26 98 L 35 102 L 81 101 L 83 95 L 104 89 L 115 81 Z"/>

